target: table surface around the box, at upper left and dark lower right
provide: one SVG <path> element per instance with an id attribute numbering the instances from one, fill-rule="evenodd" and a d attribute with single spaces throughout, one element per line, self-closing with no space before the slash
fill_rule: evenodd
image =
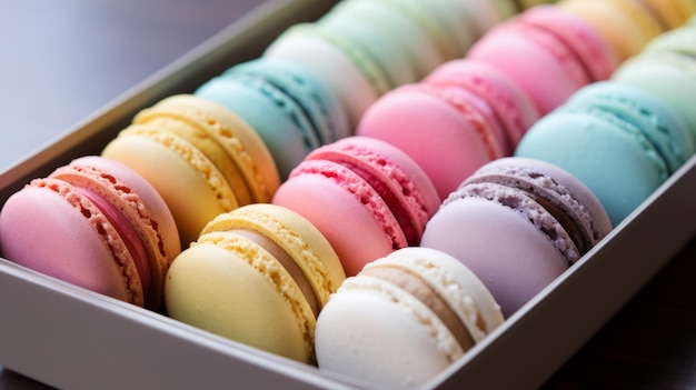
<path id="1" fill-rule="evenodd" d="M 0 2 L 0 167 L 60 137 L 261 1 Z M 696 388 L 695 277 L 696 239 L 544 387 Z M 0 389 L 44 388 L 0 367 Z"/>

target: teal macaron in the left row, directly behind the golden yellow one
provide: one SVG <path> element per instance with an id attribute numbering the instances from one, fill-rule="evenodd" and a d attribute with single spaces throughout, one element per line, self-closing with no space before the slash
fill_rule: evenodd
<path id="1" fill-rule="evenodd" d="M 249 123 L 272 154 L 281 180 L 311 150 L 352 133 L 334 91 L 294 62 L 265 58 L 239 63 L 195 94 Z"/>

